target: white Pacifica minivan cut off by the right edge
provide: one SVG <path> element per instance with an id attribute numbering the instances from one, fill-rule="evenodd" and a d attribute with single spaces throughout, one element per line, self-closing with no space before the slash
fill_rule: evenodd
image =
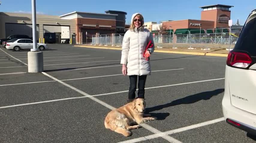
<path id="1" fill-rule="evenodd" d="M 256 9 L 228 54 L 222 110 L 226 122 L 256 135 Z"/>

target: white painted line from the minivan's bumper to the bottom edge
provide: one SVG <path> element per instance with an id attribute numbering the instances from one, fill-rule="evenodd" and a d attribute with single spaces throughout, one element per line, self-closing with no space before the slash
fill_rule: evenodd
<path id="1" fill-rule="evenodd" d="M 225 120 L 224 117 L 222 117 L 222 118 L 219 118 L 219 119 L 214 119 L 214 120 L 202 122 L 202 123 L 198 123 L 198 124 L 195 124 L 195 125 L 190 125 L 190 126 L 186 126 L 186 127 L 183 127 L 183 128 L 169 130 L 169 131 L 162 132 L 162 133 L 156 133 L 156 134 L 149 135 L 149 136 L 143 136 L 143 137 L 139 137 L 139 138 L 136 138 L 136 139 L 130 139 L 130 140 L 127 140 L 127 141 L 124 141 L 124 142 L 118 142 L 118 143 L 135 143 L 135 142 L 146 141 L 146 140 L 149 140 L 149 139 L 155 139 L 155 138 L 159 138 L 159 137 L 162 137 L 162 136 L 171 135 L 171 134 L 174 134 L 174 133 L 180 133 L 180 132 L 183 132 L 183 131 L 186 131 L 186 130 L 191 130 L 191 129 L 203 127 L 203 126 L 206 126 L 206 125 L 215 124 L 217 122 L 221 122 L 221 121 L 224 121 L 224 120 Z"/>

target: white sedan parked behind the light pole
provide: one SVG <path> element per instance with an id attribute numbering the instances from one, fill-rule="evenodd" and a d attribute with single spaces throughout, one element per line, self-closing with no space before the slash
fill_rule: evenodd
<path id="1" fill-rule="evenodd" d="M 12 42 L 6 43 L 6 49 L 13 49 L 14 51 L 19 51 L 21 49 L 33 49 L 33 41 L 31 39 L 17 39 Z M 47 44 L 37 43 L 37 48 L 40 51 L 48 49 Z"/>

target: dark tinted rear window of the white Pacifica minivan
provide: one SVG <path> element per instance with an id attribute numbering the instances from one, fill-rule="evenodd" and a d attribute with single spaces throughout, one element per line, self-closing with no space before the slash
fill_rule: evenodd
<path id="1" fill-rule="evenodd" d="M 246 51 L 251 56 L 256 56 L 256 18 L 253 18 L 245 25 L 234 50 Z"/>

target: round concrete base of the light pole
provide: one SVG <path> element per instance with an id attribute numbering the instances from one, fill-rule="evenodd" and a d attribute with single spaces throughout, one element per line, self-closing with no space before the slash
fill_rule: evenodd
<path id="1" fill-rule="evenodd" d="M 28 72 L 43 72 L 43 52 L 28 52 Z"/>

